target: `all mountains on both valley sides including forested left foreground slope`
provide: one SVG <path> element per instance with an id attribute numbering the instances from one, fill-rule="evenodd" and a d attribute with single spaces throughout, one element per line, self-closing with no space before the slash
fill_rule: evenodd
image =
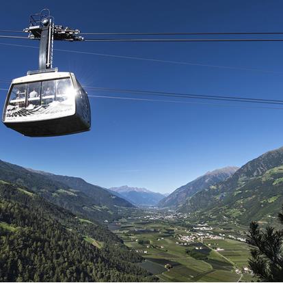
<path id="1" fill-rule="evenodd" d="M 142 206 L 158 193 L 112 189 L 0 161 L 0 281 L 157 280 L 137 265 L 143 258 L 101 222 L 119 219 L 122 209 Z M 163 197 L 154 202 L 202 223 L 270 224 L 283 203 L 283 147 L 239 169 L 207 172 L 157 200 Z"/>

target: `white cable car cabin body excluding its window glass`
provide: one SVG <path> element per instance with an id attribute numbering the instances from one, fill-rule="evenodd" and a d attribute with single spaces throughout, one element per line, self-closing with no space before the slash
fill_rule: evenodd
<path id="1" fill-rule="evenodd" d="M 55 101 L 57 94 L 53 95 L 53 106 L 50 107 L 53 110 L 55 109 L 53 112 L 49 110 L 51 103 L 44 105 L 44 107 L 41 105 L 44 98 L 42 94 L 38 98 L 38 100 L 40 99 L 40 105 L 35 110 L 28 109 L 27 103 L 30 103 L 28 100 L 31 100 L 31 98 L 28 97 L 29 94 L 27 94 L 26 90 L 29 85 L 34 83 L 41 83 L 42 85 L 44 82 L 55 81 L 57 90 L 58 81 L 64 79 L 70 79 L 72 82 L 72 87 L 68 88 L 70 93 L 68 94 L 67 110 L 64 109 L 66 103 Z M 21 84 L 26 84 L 25 107 L 14 106 L 14 109 L 10 111 L 8 108 L 13 87 Z M 10 106 L 10 108 L 13 107 Z M 9 111 L 18 111 L 18 113 L 9 116 Z M 40 72 L 14 79 L 3 109 L 3 123 L 5 126 L 29 137 L 51 137 L 89 131 L 91 125 L 90 116 L 90 103 L 87 94 L 75 78 L 75 75 L 70 72 Z"/>

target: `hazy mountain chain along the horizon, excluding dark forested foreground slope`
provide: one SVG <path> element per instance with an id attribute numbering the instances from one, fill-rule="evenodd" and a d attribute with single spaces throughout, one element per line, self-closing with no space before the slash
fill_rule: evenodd
<path id="1" fill-rule="evenodd" d="M 241 168 L 207 172 L 170 196 L 144 188 L 104 189 L 72 176 L 26 169 L 0 161 L 0 180 L 16 183 L 86 219 L 112 221 L 121 208 L 156 206 L 197 218 L 233 219 L 241 224 L 273 219 L 283 203 L 283 147 Z"/>

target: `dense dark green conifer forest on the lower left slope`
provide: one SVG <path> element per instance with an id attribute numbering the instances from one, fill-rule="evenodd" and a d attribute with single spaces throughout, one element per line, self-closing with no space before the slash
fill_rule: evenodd
<path id="1" fill-rule="evenodd" d="M 0 182 L 0 281 L 155 280 L 135 263 L 142 257 L 105 226 L 79 219 L 25 187 Z"/>

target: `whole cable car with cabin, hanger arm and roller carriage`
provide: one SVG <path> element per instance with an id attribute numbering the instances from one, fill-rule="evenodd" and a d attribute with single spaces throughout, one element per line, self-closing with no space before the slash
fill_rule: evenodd
<path id="1" fill-rule="evenodd" d="M 52 68 L 53 40 L 81 41 L 79 30 L 55 26 L 48 9 L 30 17 L 25 29 L 40 40 L 39 70 L 13 79 L 3 109 L 5 126 L 29 137 L 68 135 L 90 130 L 87 93 L 72 72 Z"/>

